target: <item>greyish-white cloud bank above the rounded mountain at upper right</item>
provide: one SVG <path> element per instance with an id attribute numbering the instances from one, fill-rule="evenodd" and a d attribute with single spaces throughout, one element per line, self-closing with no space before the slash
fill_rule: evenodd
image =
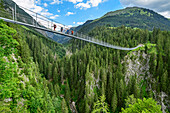
<path id="1" fill-rule="evenodd" d="M 154 10 L 163 16 L 170 17 L 170 0 L 120 0 L 123 7 L 139 6 Z"/>

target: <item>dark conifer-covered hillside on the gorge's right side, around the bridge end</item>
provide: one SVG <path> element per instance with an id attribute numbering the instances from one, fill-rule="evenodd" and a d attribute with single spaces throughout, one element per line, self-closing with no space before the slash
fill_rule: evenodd
<path id="1" fill-rule="evenodd" d="M 77 98 L 75 101 L 79 112 L 93 111 L 94 103 L 101 95 L 105 95 L 110 111 L 120 112 L 122 107 L 126 108 L 125 99 L 132 94 L 136 99 L 154 98 L 160 105 L 164 102 L 164 110 L 168 110 L 170 32 L 159 29 L 149 32 L 122 26 L 97 27 L 89 35 L 122 47 L 134 47 L 138 44 L 146 46 L 136 50 L 139 53 L 135 55 L 135 51 L 119 51 L 74 40 L 73 52 L 76 51 L 75 48 L 80 51 L 75 52 L 69 60 L 65 59 L 63 64 L 64 75 L 70 82 L 70 95 L 75 95 L 73 100 Z M 156 47 L 148 42 L 156 44 Z M 131 65 L 139 63 L 143 67 L 139 66 L 135 70 L 136 67 L 128 65 L 127 57 L 132 60 Z M 138 62 L 136 59 L 139 59 Z M 131 68 L 134 68 L 134 72 L 128 75 Z M 143 73 L 138 72 L 141 68 Z M 67 71 L 68 69 L 70 70 Z M 164 98 L 162 93 L 165 93 Z"/>

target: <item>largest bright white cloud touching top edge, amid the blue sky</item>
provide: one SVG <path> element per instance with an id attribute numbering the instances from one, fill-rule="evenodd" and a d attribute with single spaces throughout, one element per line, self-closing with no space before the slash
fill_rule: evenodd
<path id="1" fill-rule="evenodd" d="M 78 3 L 75 5 L 76 8 L 87 9 L 91 7 L 97 7 L 100 3 L 105 2 L 106 0 L 89 0 L 86 3 Z"/>

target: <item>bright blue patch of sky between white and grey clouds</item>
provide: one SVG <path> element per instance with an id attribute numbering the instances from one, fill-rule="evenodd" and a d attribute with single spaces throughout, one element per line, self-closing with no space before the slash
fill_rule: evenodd
<path id="1" fill-rule="evenodd" d="M 45 2 L 45 1 L 43 1 Z M 86 3 L 87 0 L 84 1 Z M 82 24 L 86 20 L 96 19 L 108 11 L 114 11 L 117 9 L 123 8 L 118 0 L 107 0 L 97 6 L 91 6 L 90 8 L 80 8 L 76 7 L 78 4 L 72 2 L 63 1 L 62 4 L 50 4 L 49 1 L 46 2 L 49 12 L 52 12 L 54 15 L 59 15 L 55 20 L 66 25 L 78 25 Z"/>

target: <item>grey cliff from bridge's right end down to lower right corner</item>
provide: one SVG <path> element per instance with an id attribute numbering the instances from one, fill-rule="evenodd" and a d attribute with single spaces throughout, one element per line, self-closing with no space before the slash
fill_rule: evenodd
<path id="1" fill-rule="evenodd" d="M 161 109 L 163 113 L 165 112 L 165 109 L 168 107 L 168 95 L 165 92 L 156 92 L 152 88 L 152 84 L 156 82 L 153 75 L 149 72 L 149 65 L 150 62 L 150 55 L 146 54 L 144 51 L 134 51 L 130 54 L 126 55 L 124 58 L 124 61 L 122 63 L 125 63 L 126 66 L 126 72 L 125 72 L 125 82 L 126 85 L 129 82 L 129 79 L 131 76 L 137 77 L 138 83 L 140 83 L 142 80 L 147 81 L 148 86 L 146 87 L 146 91 L 152 91 L 154 94 L 154 99 L 161 105 Z"/>

